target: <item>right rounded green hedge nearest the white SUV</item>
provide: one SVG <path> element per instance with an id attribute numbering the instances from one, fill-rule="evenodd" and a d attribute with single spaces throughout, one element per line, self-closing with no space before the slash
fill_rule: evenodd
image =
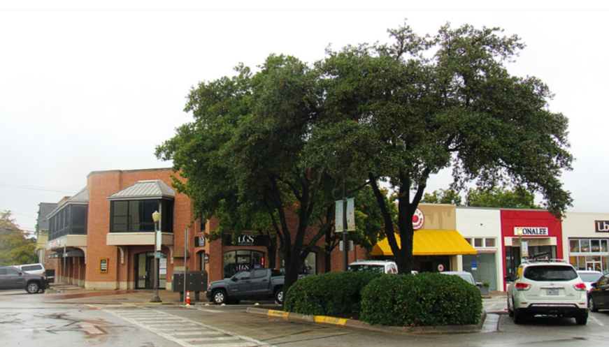
<path id="1" fill-rule="evenodd" d="M 391 326 L 478 324 L 480 290 L 459 276 L 424 272 L 384 275 L 361 293 L 360 319 Z"/>

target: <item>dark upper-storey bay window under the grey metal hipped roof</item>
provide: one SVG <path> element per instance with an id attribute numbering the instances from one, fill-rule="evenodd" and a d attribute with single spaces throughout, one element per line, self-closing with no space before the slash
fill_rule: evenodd
<path id="1" fill-rule="evenodd" d="M 161 230 L 173 232 L 173 201 L 115 200 L 110 207 L 110 232 L 153 232 L 152 214 L 161 212 Z"/>

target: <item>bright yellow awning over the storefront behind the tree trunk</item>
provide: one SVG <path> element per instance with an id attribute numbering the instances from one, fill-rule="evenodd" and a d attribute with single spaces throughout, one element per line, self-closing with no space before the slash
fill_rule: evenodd
<path id="1" fill-rule="evenodd" d="M 400 236 L 396 234 L 400 244 Z M 415 230 L 413 237 L 414 256 L 456 256 L 477 252 L 457 230 Z M 373 256 L 393 256 L 387 237 L 374 246 Z"/>

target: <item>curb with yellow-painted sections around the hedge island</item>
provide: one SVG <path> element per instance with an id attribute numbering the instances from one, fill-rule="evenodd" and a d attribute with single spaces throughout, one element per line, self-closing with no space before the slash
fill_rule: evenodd
<path id="1" fill-rule="evenodd" d="M 275 311 L 269 309 L 257 309 L 255 307 L 248 307 L 245 312 L 258 314 L 261 316 L 283 318 L 285 320 L 292 320 L 294 322 L 340 325 L 342 327 L 352 327 L 354 329 L 375 332 L 389 332 L 392 334 L 464 334 L 471 332 L 480 332 L 487 318 L 487 312 L 482 311 L 482 316 L 480 317 L 480 322 L 478 324 L 444 325 L 438 327 L 389 327 L 387 325 L 371 325 L 369 323 L 355 319 L 336 318 L 329 316 L 307 316 L 301 313 Z"/>

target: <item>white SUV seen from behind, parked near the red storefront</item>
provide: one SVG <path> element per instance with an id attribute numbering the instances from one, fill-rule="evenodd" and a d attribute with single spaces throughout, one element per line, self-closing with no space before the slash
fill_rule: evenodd
<path id="1" fill-rule="evenodd" d="M 524 260 L 508 289 L 508 314 L 514 323 L 537 314 L 588 320 L 586 285 L 565 260 Z"/>

